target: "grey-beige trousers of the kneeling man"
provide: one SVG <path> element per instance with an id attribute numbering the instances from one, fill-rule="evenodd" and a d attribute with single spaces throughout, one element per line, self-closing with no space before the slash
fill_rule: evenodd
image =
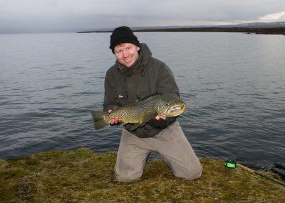
<path id="1" fill-rule="evenodd" d="M 123 128 L 115 164 L 118 181 L 132 182 L 139 179 L 150 151 L 159 152 L 176 177 L 193 180 L 202 174 L 199 159 L 180 124 L 175 122 L 149 138 L 139 138 Z"/>

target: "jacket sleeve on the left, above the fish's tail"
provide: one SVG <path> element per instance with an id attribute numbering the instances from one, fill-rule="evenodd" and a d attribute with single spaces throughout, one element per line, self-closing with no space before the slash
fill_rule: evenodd
<path id="1" fill-rule="evenodd" d="M 114 88 L 112 85 L 112 79 L 110 76 L 110 71 L 107 71 L 105 75 L 105 81 L 104 81 L 104 103 L 103 103 L 103 111 L 108 112 L 109 109 L 114 109 L 115 106 L 115 101 L 114 101 Z"/>

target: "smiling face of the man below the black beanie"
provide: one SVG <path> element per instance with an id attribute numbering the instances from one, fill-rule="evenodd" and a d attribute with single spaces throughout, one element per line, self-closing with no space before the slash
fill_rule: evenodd
<path id="1" fill-rule="evenodd" d="M 135 63 L 135 60 L 138 59 L 138 51 L 140 47 L 135 46 L 135 44 L 131 43 L 122 43 L 118 44 L 114 48 L 115 56 L 120 62 L 127 67 L 130 67 Z"/>

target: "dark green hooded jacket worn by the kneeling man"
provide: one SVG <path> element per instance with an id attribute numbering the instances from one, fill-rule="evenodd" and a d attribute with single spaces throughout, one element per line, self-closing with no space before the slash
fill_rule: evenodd
<path id="1" fill-rule="evenodd" d="M 152 58 L 146 44 L 140 44 L 140 56 L 129 68 L 118 62 L 108 69 L 105 76 L 104 111 L 115 106 L 124 106 L 142 99 L 150 94 L 167 93 L 180 97 L 179 89 L 170 68 L 160 60 Z M 138 137 L 154 137 L 175 122 L 176 117 L 166 121 L 152 119 L 135 131 L 130 130 L 133 124 L 125 124 L 125 129 Z"/>

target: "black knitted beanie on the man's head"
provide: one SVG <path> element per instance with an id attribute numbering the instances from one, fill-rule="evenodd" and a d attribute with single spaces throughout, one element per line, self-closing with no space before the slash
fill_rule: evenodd
<path id="1" fill-rule="evenodd" d="M 132 43 L 140 47 L 140 41 L 138 41 L 138 38 L 128 26 L 117 27 L 111 34 L 109 48 L 112 49 L 113 54 L 115 46 L 121 43 Z"/>

